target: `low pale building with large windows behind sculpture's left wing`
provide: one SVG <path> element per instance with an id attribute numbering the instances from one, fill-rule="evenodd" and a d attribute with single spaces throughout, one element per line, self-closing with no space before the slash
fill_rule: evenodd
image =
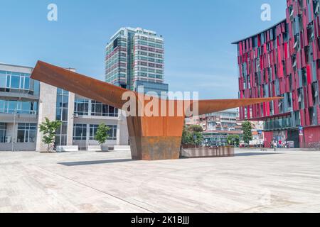
<path id="1" fill-rule="evenodd" d="M 98 145 L 94 135 L 101 123 L 110 128 L 106 145 L 128 145 L 127 121 L 118 109 L 33 80 L 32 70 L 0 64 L 0 150 L 46 150 L 38 129 L 45 118 L 63 123 L 57 145 Z"/>

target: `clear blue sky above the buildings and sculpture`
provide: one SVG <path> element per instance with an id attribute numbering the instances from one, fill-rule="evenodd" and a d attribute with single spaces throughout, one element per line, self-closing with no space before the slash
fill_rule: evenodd
<path id="1" fill-rule="evenodd" d="M 58 21 L 47 6 L 58 5 Z M 260 6 L 272 6 L 272 21 Z M 202 99 L 238 97 L 236 47 L 230 43 L 285 18 L 285 0 L 0 0 L 0 62 L 37 60 L 104 79 L 105 45 L 119 28 L 142 27 L 165 38 L 165 82 Z"/>

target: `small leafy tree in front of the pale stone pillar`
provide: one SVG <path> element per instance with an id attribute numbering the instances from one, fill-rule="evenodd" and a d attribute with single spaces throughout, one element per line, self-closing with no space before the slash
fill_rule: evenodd
<path id="1" fill-rule="evenodd" d="M 61 121 L 50 121 L 46 118 L 46 121 L 39 125 L 40 132 L 43 133 L 42 142 L 48 145 L 47 151 L 52 151 L 50 145 L 55 142 L 55 131 L 61 126 Z"/>

